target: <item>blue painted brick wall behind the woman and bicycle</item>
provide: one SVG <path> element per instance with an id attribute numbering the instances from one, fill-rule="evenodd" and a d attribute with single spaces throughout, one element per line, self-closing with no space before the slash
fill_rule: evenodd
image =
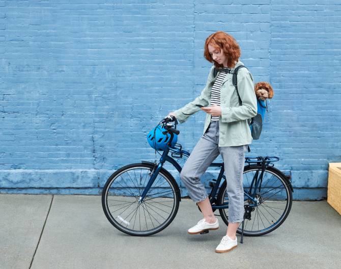
<path id="1" fill-rule="evenodd" d="M 99 194 L 116 169 L 153 161 L 147 133 L 201 93 L 205 39 L 225 31 L 275 91 L 249 155 L 279 156 L 296 199 L 326 197 L 341 162 L 340 19 L 326 0 L 0 2 L 0 192 Z M 204 121 L 179 126 L 188 151 Z"/>

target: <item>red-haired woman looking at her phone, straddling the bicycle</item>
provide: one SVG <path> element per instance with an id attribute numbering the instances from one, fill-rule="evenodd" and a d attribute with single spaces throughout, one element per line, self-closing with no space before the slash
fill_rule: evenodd
<path id="1" fill-rule="evenodd" d="M 201 96 L 188 103 L 182 109 L 169 113 L 180 123 L 200 110 L 207 113 L 204 134 L 194 147 L 185 163 L 180 177 L 193 202 L 200 206 L 204 219 L 188 230 L 190 234 L 198 234 L 205 230 L 219 228 L 212 207 L 200 177 L 213 160 L 221 154 L 224 162 L 225 176 L 229 195 L 229 226 L 226 235 L 216 248 L 216 252 L 228 252 L 237 247 L 236 231 L 243 221 L 243 169 L 247 145 L 251 143 L 251 131 L 247 123 L 257 115 L 257 99 L 253 90 L 253 77 L 246 68 L 238 71 L 237 82 L 239 97 L 232 84 L 233 74 L 230 71 L 243 65 L 238 59 L 240 48 L 236 40 L 224 32 L 216 32 L 205 42 L 204 56 L 214 63 L 207 84 Z M 214 68 L 226 68 L 213 76 Z M 201 109 L 196 106 L 201 104 Z"/>

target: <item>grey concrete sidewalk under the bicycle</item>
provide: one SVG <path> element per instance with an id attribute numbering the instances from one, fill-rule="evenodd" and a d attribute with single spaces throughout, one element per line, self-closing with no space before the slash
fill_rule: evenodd
<path id="1" fill-rule="evenodd" d="M 126 235 L 100 196 L 0 195 L 0 268 L 341 268 L 341 216 L 325 201 L 294 202 L 288 219 L 218 254 L 220 228 L 190 235 L 202 214 L 190 200 L 165 230 Z"/>

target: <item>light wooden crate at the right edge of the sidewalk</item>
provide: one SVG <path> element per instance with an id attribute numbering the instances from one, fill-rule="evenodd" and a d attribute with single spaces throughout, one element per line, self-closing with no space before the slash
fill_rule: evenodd
<path id="1" fill-rule="evenodd" d="M 327 202 L 341 214 L 341 163 L 329 164 Z"/>

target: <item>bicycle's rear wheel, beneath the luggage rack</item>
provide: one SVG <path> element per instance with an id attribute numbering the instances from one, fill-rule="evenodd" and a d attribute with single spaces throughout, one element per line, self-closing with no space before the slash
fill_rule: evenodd
<path id="1" fill-rule="evenodd" d="M 244 168 L 244 192 L 246 190 L 249 192 L 250 181 L 257 171 L 260 174 L 262 172 L 262 167 L 246 166 Z M 251 194 L 253 193 L 253 190 L 254 188 L 252 188 Z M 252 195 L 250 196 L 252 197 Z M 244 196 L 244 204 L 253 203 L 250 199 L 245 200 L 246 198 L 247 197 Z M 254 207 L 254 211 L 251 212 L 251 220 L 245 219 L 244 222 L 244 235 L 247 236 L 260 236 L 272 232 L 287 219 L 293 202 L 290 182 L 279 170 L 268 167 L 264 171 L 260 196 L 256 198 L 258 199 L 259 204 L 257 207 Z M 222 205 L 223 202 L 226 201 L 228 201 L 228 194 L 226 194 L 225 180 L 221 184 L 218 193 L 218 203 L 219 205 Z M 226 225 L 229 225 L 229 209 L 219 209 L 219 212 L 223 222 Z M 240 222 L 237 229 L 237 233 L 239 234 L 242 232 L 241 227 L 242 222 Z"/>

